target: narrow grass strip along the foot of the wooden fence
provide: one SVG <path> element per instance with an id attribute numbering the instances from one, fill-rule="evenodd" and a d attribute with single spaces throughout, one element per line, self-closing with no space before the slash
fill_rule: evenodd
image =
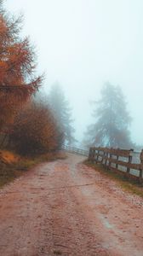
<path id="1" fill-rule="evenodd" d="M 113 172 L 100 164 L 93 164 L 88 160 L 83 162 L 86 166 L 92 167 L 94 170 L 100 172 L 105 177 L 110 177 L 116 181 L 117 184 L 124 190 L 134 195 L 140 195 L 143 198 L 143 184 L 134 180 L 129 180 L 128 177 L 123 176 L 121 172 Z"/>

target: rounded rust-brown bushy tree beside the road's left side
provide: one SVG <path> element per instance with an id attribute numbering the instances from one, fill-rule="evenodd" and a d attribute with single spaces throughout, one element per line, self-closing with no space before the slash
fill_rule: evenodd
<path id="1" fill-rule="evenodd" d="M 10 142 L 20 154 L 43 154 L 60 148 L 63 134 L 43 102 L 30 102 L 14 119 Z"/>

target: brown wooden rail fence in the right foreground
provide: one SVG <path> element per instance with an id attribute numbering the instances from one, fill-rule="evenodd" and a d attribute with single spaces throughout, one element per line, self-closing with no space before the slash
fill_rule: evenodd
<path id="1" fill-rule="evenodd" d="M 143 182 L 143 150 L 137 153 L 134 149 L 90 148 L 89 161 Z"/>

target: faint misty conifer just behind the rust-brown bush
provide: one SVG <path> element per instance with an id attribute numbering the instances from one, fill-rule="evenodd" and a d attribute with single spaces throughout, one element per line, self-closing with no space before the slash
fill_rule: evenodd
<path id="1" fill-rule="evenodd" d="M 76 142 L 73 137 L 75 130 L 72 127 L 72 109 L 69 108 L 69 102 L 67 102 L 59 83 L 53 84 L 49 92 L 49 106 L 60 129 L 64 132 L 65 142 L 68 144 Z"/>

